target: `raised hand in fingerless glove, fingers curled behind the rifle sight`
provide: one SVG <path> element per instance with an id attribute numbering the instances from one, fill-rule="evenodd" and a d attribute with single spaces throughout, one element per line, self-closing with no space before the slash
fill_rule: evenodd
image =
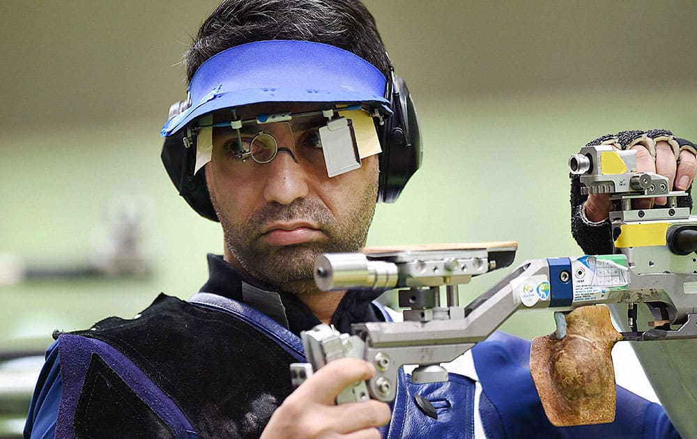
<path id="1" fill-rule="evenodd" d="M 600 137 L 588 145 L 600 144 L 609 144 L 618 150 L 636 150 L 636 171 L 668 177 L 671 190 L 687 190 L 695 178 L 696 146 L 691 141 L 673 137 L 670 131 L 623 131 Z M 666 202 L 666 197 L 641 199 L 635 202 L 634 208 L 650 209 L 654 204 L 664 206 Z M 585 201 L 585 217 L 592 222 L 604 221 L 611 208 L 608 194 L 590 194 Z"/>

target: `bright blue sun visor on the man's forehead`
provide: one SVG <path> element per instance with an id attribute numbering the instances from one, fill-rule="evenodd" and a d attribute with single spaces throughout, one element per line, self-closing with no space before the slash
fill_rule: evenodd
<path id="1" fill-rule="evenodd" d="M 385 77 L 375 66 L 344 49 L 296 40 L 271 40 L 231 47 L 211 56 L 189 86 L 192 106 L 167 121 L 170 136 L 204 114 L 262 102 L 361 104 L 392 114 Z"/>

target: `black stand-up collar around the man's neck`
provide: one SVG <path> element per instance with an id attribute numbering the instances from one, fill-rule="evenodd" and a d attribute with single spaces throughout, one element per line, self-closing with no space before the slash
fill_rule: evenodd
<path id="1" fill-rule="evenodd" d="M 245 279 L 233 265 L 217 254 L 208 254 L 208 282 L 200 291 L 244 302 L 270 316 L 294 334 L 300 334 L 300 331 L 312 329 L 321 323 L 296 295 L 273 291 L 259 282 Z M 351 323 L 381 321 L 381 313 L 372 305 L 372 301 L 381 293 L 347 291 L 334 312 L 332 325 L 339 332 L 350 333 Z"/>

